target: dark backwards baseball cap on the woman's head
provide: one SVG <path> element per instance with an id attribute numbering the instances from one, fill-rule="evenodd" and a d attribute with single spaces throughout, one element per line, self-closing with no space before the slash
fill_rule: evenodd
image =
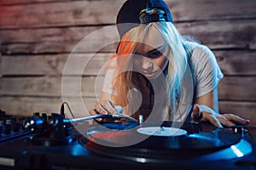
<path id="1" fill-rule="evenodd" d="M 117 24 L 132 23 L 131 25 L 118 25 L 119 36 L 141 24 L 139 14 L 146 8 L 161 8 L 165 11 L 165 21 L 172 22 L 172 14 L 163 0 L 127 0 L 119 10 Z M 160 20 L 159 20 L 160 21 Z"/>

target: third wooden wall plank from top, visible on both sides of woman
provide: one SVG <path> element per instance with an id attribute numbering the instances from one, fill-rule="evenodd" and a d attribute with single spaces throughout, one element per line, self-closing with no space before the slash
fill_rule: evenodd
<path id="1" fill-rule="evenodd" d="M 213 50 L 218 65 L 225 76 L 255 76 L 256 52 L 247 50 Z M 102 65 L 106 64 L 112 53 L 98 54 L 18 54 L 2 55 L 0 58 L 0 72 L 3 76 L 61 76 L 68 56 L 74 65 L 73 71 L 66 71 L 66 75 L 96 76 Z M 87 63 L 87 61 L 90 61 Z"/>

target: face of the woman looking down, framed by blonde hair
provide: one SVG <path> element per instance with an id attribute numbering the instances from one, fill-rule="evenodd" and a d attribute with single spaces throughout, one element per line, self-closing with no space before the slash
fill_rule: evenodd
<path id="1" fill-rule="evenodd" d="M 133 56 L 134 68 L 148 79 L 159 77 L 166 68 L 169 52 L 170 48 L 160 31 L 150 26 L 143 43 L 138 44 Z"/>

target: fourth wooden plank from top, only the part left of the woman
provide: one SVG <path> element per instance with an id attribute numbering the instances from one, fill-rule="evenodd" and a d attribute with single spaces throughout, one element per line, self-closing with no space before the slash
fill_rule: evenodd
<path id="1" fill-rule="evenodd" d="M 103 77 L 9 77 L 1 78 L 3 96 L 95 97 L 101 92 Z M 98 83 L 97 83 L 98 82 Z M 101 82 L 101 83 L 100 83 Z"/>

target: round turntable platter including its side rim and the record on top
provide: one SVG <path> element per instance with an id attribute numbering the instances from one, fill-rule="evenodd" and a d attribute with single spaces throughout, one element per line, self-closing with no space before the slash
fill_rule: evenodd
<path id="1" fill-rule="evenodd" d="M 236 133 L 231 128 L 184 123 L 177 130 L 171 128 L 172 122 L 164 122 L 164 130 L 177 130 L 178 135 L 173 136 L 159 135 L 161 127 L 154 126 L 154 122 L 143 124 L 143 127 L 125 125 L 129 125 L 129 128 L 125 129 L 122 123 L 91 127 L 85 137 L 79 138 L 79 143 L 97 154 L 143 162 L 224 160 L 238 157 L 237 150 L 240 152 L 239 156 L 247 155 L 253 150 L 252 146 L 242 139 L 243 134 Z M 150 135 L 149 131 L 153 135 Z M 143 140 L 124 145 L 129 140 L 139 138 Z"/>

